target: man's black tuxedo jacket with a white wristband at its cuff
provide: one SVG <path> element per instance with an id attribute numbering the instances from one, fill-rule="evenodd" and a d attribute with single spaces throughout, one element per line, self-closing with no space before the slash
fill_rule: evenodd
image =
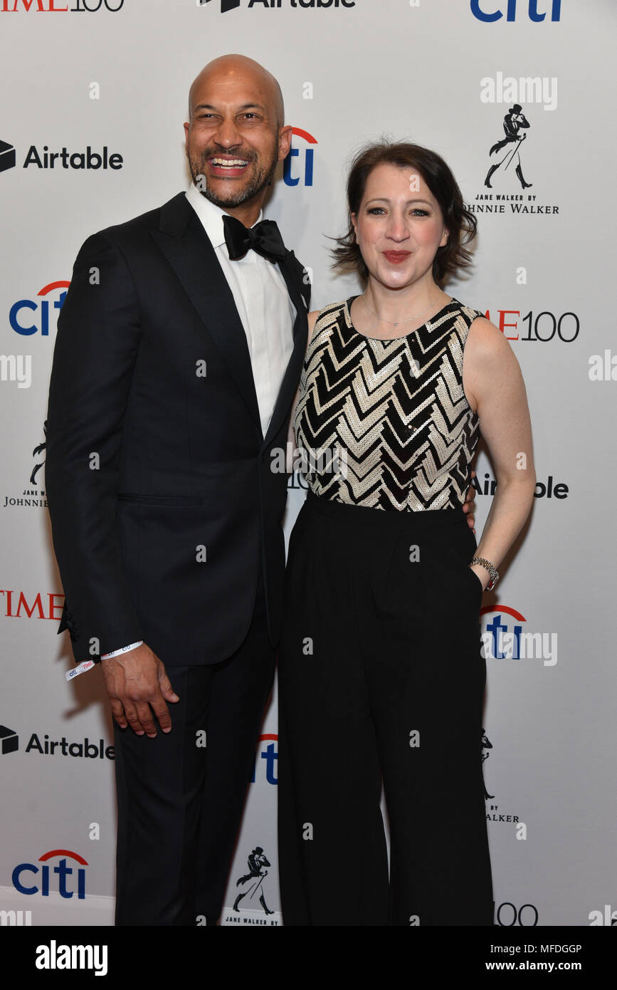
<path id="1" fill-rule="evenodd" d="M 58 318 L 45 481 L 76 660 L 144 640 L 215 663 L 250 624 L 262 569 L 281 628 L 285 448 L 310 287 L 280 262 L 298 315 L 264 438 L 246 337 L 184 193 L 81 247 Z"/>

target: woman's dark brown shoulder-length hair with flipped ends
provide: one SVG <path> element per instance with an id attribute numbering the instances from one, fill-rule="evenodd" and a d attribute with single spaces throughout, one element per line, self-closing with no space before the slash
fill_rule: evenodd
<path id="1" fill-rule="evenodd" d="M 347 179 L 349 227 L 343 237 L 333 239 L 338 245 L 332 248 L 333 267 L 356 271 L 363 282 L 369 277 L 369 269 L 356 244 L 351 214 L 358 214 L 367 179 L 373 169 L 382 164 L 412 168 L 418 172 L 439 203 L 448 229 L 448 243 L 437 248 L 433 260 L 435 282 L 440 284 L 446 275 L 469 267 L 472 253 L 465 246 L 476 237 L 476 217 L 465 208 L 461 190 L 448 165 L 435 151 L 405 142 L 394 143 L 385 138 L 361 148 L 351 163 Z"/>

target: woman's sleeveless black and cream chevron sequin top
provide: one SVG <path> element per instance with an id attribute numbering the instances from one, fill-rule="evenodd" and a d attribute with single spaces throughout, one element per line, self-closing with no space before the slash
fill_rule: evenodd
<path id="1" fill-rule="evenodd" d="M 301 469 L 315 495 L 418 512 L 461 506 L 480 420 L 463 391 L 463 348 L 480 310 L 452 299 L 406 337 L 353 327 L 355 299 L 320 310 L 296 409 Z"/>

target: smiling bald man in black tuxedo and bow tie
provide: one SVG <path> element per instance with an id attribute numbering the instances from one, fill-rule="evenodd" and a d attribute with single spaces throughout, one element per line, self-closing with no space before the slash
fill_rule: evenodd
<path id="1" fill-rule="evenodd" d="M 305 269 L 258 222 L 291 145 L 276 79 L 225 55 L 189 104 L 193 183 L 81 247 L 49 388 L 60 631 L 101 657 L 115 720 L 117 925 L 220 916 L 282 618 L 271 464 L 308 335 Z"/>

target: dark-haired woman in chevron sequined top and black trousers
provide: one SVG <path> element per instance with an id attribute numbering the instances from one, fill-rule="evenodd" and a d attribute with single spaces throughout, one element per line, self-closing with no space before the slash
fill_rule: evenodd
<path id="1" fill-rule="evenodd" d="M 442 288 L 476 234 L 446 162 L 380 142 L 347 194 L 334 255 L 364 292 L 309 314 L 290 426 L 308 496 L 279 653 L 284 924 L 491 925 L 480 609 L 532 505 L 525 386 Z M 481 435 L 497 487 L 477 545 Z"/>

